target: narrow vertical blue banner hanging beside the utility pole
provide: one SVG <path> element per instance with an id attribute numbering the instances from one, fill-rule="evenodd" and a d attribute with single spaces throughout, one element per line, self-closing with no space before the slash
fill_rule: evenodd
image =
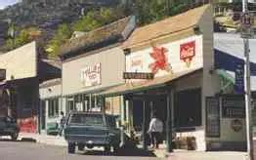
<path id="1" fill-rule="evenodd" d="M 244 65 L 237 63 L 235 66 L 235 93 L 244 94 Z"/>

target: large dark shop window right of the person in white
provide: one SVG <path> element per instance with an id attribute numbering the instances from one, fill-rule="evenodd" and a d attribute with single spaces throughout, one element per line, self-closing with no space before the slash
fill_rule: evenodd
<path id="1" fill-rule="evenodd" d="M 201 125 L 201 90 L 186 90 L 175 94 L 174 124 L 176 129 Z"/>

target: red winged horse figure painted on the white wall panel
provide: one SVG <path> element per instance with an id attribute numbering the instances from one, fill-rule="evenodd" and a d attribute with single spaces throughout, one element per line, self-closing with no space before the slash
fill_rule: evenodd
<path id="1" fill-rule="evenodd" d="M 170 72 L 172 70 L 171 64 L 168 62 L 168 50 L 163 47 L 153 47 L 152 52 L 149 54 L 154 62 L 149 64 L 149 68 L 153 74 L 158 70 L 165 70 Z"/>

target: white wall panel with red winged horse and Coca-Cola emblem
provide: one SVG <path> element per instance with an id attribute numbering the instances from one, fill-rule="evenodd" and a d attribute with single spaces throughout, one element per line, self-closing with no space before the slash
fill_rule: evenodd
<path id="1" fill-rule="evenodd" d="M 202 67 L 202 36 L 193 35 L 165 44 L 155 42 L 126 55 L 125 60 L 125 72 L 153 73 L 154 77 L 189 72 Z"/>

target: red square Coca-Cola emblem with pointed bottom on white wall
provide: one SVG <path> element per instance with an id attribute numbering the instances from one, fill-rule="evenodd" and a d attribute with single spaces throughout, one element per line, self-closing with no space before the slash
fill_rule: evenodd
<path id="1" fill-rule="evenodd" d="M 195 41 L 181 44 L 180 59 L 184 60 L 188 67 L 191 66 L 192 58 L 195 56 Z"/>

